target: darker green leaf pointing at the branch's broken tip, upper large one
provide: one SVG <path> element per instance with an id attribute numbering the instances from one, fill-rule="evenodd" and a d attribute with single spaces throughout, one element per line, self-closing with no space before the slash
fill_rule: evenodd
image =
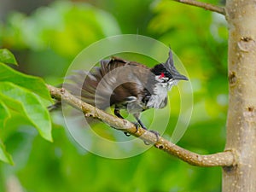
<path id="1" fill-rule="evenodd" d="M 42 96 L 44 99 L 51 101 L 49 90 L 47 89 L 44 80 L 31 75 L 26 75 L 15 71 L 15 69 L 0 62 L 0 81 L 9 81 L 13 84 L 25 87 L 28 90 Z"/>

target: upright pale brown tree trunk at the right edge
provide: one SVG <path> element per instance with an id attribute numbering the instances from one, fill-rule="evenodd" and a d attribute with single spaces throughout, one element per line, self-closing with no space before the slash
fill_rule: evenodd
<path id="1" fill-rule="evenodd" d="M 230 98 L 226 149 L 238 165 L 224 167 L 223 191 L 256 191 L 256 1 L 227 0 Z"/>

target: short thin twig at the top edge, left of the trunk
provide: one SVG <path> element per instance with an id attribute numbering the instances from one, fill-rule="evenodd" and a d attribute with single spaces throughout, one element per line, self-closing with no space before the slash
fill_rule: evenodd
<path id="1" fill-rule="evenodd" d="M 213 5 L 211 3 L 202 3 L 195 0 L 172 0 L 179 3 L 189 4 L 195 7 L 203 8 L 206 10 L 210 10 L 213 12 L 217 12 L 218 14 L 226 15 L 225 9 L 222 7 L 218 7 L 216 5 Z"/>

